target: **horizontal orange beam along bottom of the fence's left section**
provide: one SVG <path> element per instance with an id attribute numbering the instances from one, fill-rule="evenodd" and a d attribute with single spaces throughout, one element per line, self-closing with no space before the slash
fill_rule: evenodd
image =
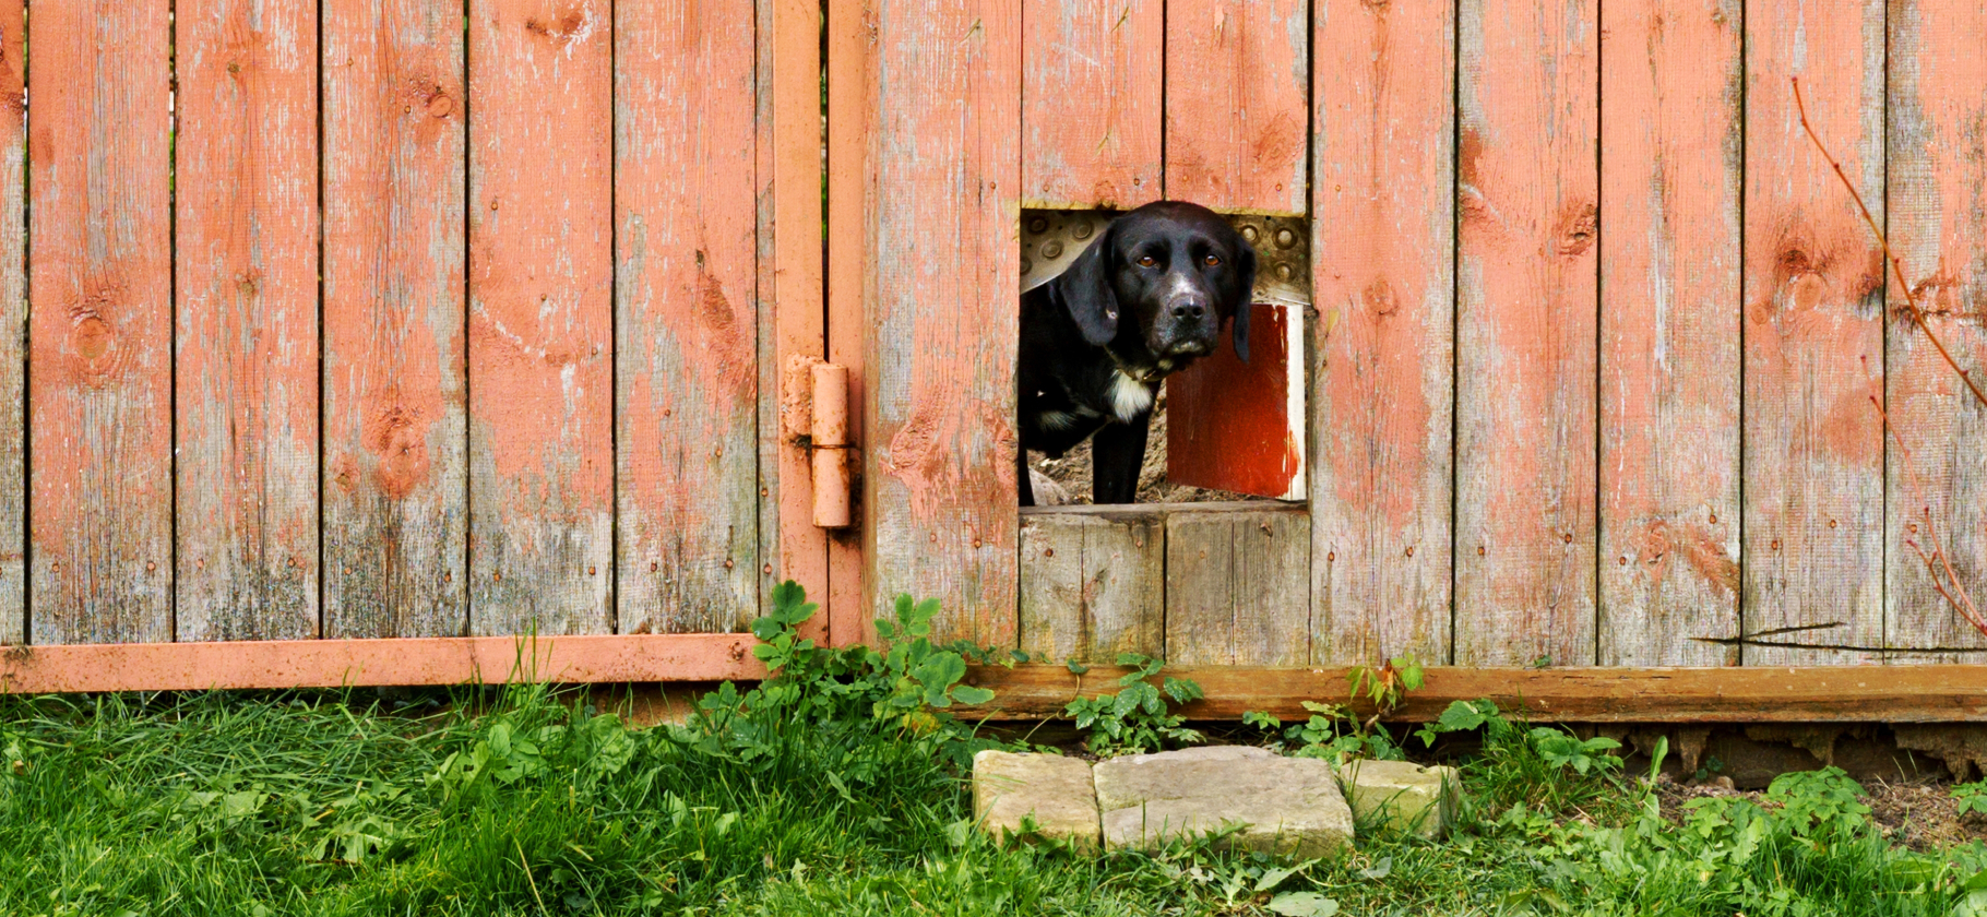
<path id="1" fill-rule="evenodd" d="M 749 633 L 91 643 L 0 649 L 0 693 L 751 681 Z"/>

